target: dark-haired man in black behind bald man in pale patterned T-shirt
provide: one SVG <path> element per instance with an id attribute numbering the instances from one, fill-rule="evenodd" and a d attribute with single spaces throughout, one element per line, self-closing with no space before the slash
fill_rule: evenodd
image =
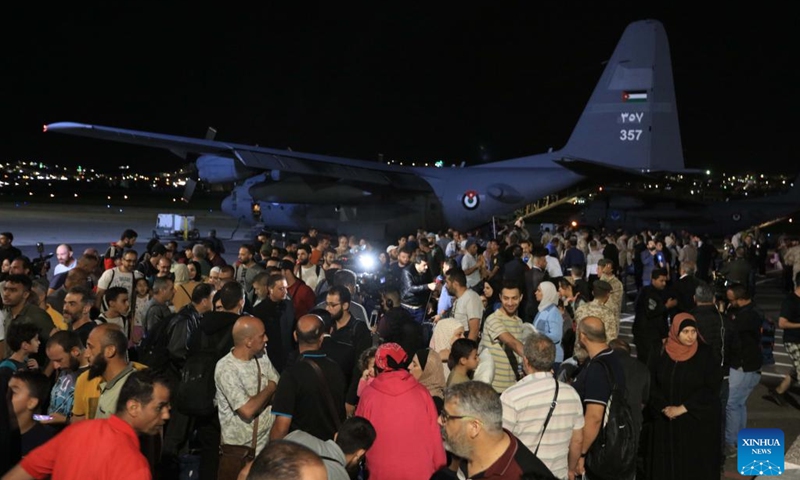
<path id="1" fill-rule="evenodd" d="M 282 372 L 286 359 L 292 351 L 292 326 L 294 306 L 286 297 L 286 278 L 280 273 L 259 273 L 253 280 L 253 288 L 261 300 L 253 307 L 253 316 L 264 322 L 267 332 L 267 356 L 272 365 Z"/>

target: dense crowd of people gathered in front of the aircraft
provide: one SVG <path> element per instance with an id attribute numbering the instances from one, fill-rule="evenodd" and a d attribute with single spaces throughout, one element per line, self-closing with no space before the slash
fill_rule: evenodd
<path id="1" fill-rule="evenodd" d="M 717 249 L 517 224 L 378 249 L 312 229 L 230 264 L 213 232 L 139 246 L 63 244 L 48 274 L 0 233 L 4 480 L 716 478 L 765 362 L 768 265 L 795 367 L 768 399 L 797 405 L 788 237 L 769 256 L 758 231 Z"/>

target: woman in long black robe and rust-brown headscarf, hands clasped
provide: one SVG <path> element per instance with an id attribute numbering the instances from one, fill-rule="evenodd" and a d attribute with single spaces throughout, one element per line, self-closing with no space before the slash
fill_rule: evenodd
<path id="1" fill-rule="evenodd" d="M 648 408 L 654 421 L 648 478 L 718 478 L 720 369 L 693 316 L 681 313 L 672 320 L 651 374 Z"/>

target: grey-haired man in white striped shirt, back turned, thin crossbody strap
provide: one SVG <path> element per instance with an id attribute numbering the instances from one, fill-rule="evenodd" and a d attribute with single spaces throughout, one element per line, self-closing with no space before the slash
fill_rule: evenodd
<path id="1" fill-rule="evenodd" d="M 553 475 L 566 479 L 575 470 L 581 454 L 584 424 L 581 398 L 575 389 L 561 382 L 555 398 L 556 380 L 551 369 L 556 347 L 552 340 L 534 334 L 525 341 L 524 352 L 522 362 L 527 376 L 500 395 L 503 428 L 534 452 Z M 553 400 L 556 406 L 548 415 Z"/>

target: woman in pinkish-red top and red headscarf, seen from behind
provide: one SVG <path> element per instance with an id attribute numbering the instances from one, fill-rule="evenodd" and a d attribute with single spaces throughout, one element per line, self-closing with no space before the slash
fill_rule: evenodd
<path id="1" fill-rule="evenodd" d="M 431 360 L 429 354 L 427 363 Z M 379 346 L 375 379 L 358 402 L 356 415 L 369 420 L 377 433 L 366 455 L 370 480 L 431 478 L 445 464 L 436 406 L 407 364 L 400 345 Z"/>

